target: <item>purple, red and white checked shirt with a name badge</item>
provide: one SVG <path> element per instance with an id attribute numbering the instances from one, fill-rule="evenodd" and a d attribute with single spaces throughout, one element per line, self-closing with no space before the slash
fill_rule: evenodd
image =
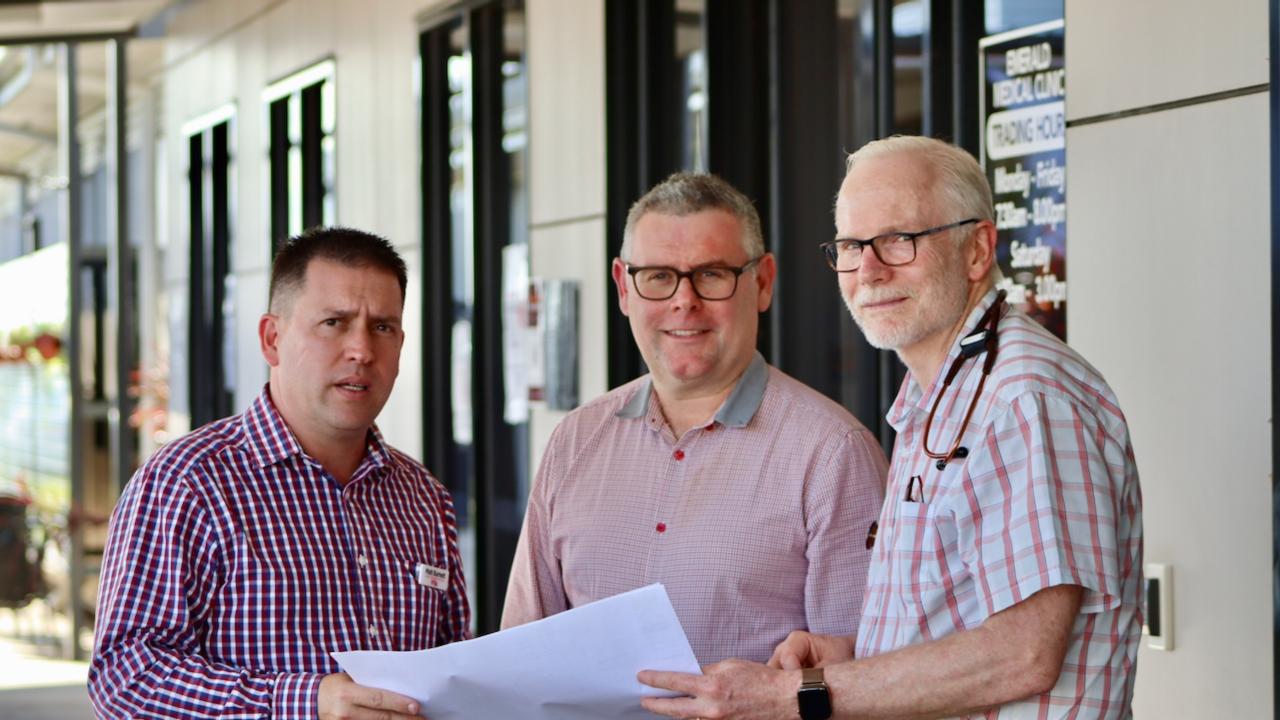
<path id="1" fill-rule="evenodd" d="M 100 717 L 314 719 L 330 652 L 422 650 L 468 626 L 444 487 L 376 429 L 339 486 L 264 389 L 125 488 L 88 691 Z"/>

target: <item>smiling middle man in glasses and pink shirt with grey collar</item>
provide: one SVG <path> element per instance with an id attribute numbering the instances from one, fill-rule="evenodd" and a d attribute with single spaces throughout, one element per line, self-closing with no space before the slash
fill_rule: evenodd
<path id="1" fill-rule="evenodd" d="M 503 626 L 663 583 L 701 662 L 856 630 L 884 456 L 755 351 L 773 278 L 755 208 L 714 176 L 631 208 L 613 282 L 650 372 L 552 434 Z"/>

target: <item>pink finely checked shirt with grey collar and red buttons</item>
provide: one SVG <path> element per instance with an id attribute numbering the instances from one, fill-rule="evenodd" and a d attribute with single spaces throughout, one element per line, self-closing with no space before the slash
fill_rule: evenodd
<path id="1" fill-rule="evenodd" d="M 851 634 L 884 471 L 865 428 L 759 355 L 680 438 L 631 382 L 552 434 L 502 624 L 663 583 L 703 664 L 767 660 L 796 629 Z"/>

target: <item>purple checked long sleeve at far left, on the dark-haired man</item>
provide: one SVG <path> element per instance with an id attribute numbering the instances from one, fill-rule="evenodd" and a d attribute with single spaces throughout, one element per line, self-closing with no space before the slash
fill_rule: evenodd
<path id="1" fill-rule="evenodd" d="M 140 470 L 111 518 L 88 694 L 99 717 L 314 719 L 323 675 L 259 673 L 201 655 L 223 559 L 183 482 Z"/>

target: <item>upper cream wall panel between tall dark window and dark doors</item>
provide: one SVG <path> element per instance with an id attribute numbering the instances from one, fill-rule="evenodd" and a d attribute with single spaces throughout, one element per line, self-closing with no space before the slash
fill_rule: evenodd
<path id="1" fill-rule="evenodd" d="M 602 214 L 604 3 L 527 0 L 526 17 L 532 224 Z"/>

